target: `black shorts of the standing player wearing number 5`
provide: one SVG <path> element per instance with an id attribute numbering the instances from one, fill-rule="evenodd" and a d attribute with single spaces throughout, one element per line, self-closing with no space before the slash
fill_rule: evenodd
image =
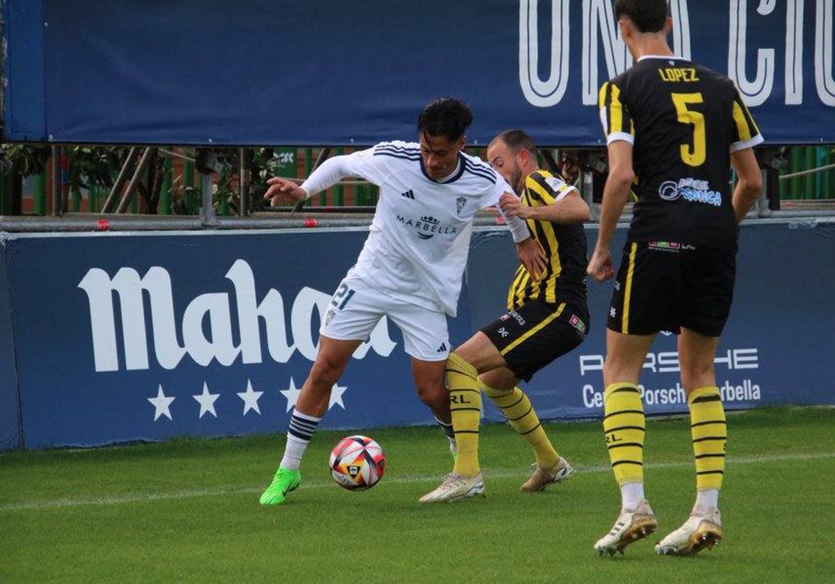
<path id="1" fill-rule="evenodd" d="M 610 330 L 652 335 L 681 327 L 719 336 L 733 300 L 736 253 L 673 241 L 628 242 L 609 305 Z"/>

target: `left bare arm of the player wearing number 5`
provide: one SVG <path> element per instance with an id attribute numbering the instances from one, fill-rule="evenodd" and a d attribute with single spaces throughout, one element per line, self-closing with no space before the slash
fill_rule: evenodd
<path id="1" fill-rule="evenodd" d="M 603 189 L 600 204 L 600 232 L 597 235 L 595 252 L 591 256 L 586 273 L 598 282 L 604 282 L 615 275 L 610 244 L 620 214 L 629 198 L 635 170 L 632 168 L 632 144 L 616 140 L 609 144 L 609 177 Z"/>

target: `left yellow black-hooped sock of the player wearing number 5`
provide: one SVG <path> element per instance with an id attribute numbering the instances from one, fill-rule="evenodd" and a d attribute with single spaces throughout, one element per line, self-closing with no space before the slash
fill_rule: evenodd
<path id="1" fill-rule="evenodd" d="M 603 394 L 603 431 L 619 485 L 644 482 L 644 406 L 634 383 L 613 383 Z"/>

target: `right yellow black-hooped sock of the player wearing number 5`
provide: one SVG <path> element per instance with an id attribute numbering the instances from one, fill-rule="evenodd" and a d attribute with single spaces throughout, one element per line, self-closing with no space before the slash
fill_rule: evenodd
<path id="1" fill-rule="evenodd" d="M 722 487 L 725 476 L 727 424 L 719 388 L 700 387 L 687 396 L 690 407 L 690 431 L 693 455 L 696 456 L 696 488 Z"/>

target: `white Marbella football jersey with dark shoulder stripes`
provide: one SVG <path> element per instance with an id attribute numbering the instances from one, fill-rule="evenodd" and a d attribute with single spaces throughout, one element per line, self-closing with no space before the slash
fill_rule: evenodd
<path id="1" fill-rule="evenodd" d="M 423 168 L 420 144 L 401 141 L 328 159 L 301 187 L 314 194 L 345 176 L 380 187 L 370 234 L 351 273 L 387 295 L 455 316 L 473 217 L 513 189 L 464 153 L 456 171 L 436 182 Z M 523 221 L 508 223 L 515 241 L 529 237 Z"/>

